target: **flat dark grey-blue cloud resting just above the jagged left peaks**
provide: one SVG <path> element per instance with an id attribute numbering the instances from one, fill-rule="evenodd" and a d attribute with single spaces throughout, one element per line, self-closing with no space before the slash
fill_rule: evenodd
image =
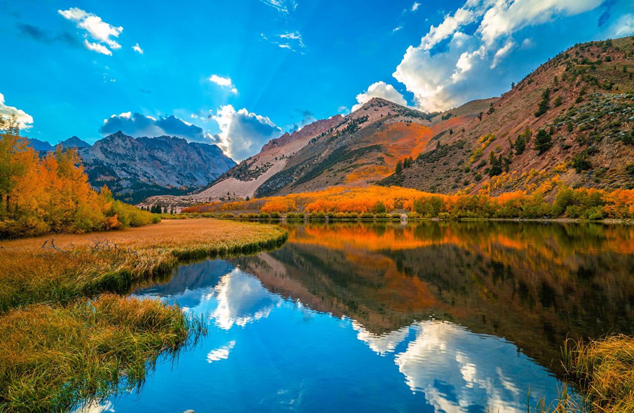
<path id="1" fill-rule="evenodd" d="M 109 135 L 119 130 L 133 137 L 169 135 L 182 137 L 188 141 L 210 143 L 201 127 L 174 115 L 155 118 L 131 111 L 119 113 L 119 115 L 112 115 L 103 120 L 99 132 L 103 135 Z"/>

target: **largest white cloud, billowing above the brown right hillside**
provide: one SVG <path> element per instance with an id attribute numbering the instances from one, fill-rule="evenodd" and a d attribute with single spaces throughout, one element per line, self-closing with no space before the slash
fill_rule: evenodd
<path id="1" fill-rule="evenodd" d="M 602 0 L 467 0 L 410 46 L 393 76 L 418 107 L 436 111 L 461 105 L 499 87 L 497 70 L 515 49 L 513 34 L 560 16 L 590 11 Z M 469 30 L 470 27 L 475 30 Z M 522 42 L 522 49 L 532 45 Z"/>

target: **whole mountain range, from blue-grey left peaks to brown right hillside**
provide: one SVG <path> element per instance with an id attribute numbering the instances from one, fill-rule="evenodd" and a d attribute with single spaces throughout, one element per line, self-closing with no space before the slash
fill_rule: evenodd
<path id="1" fill-rule="evenodd" d="M 557 182 L 634 187 L 634 37 L 577 44 L 500 98 L 424 113 L 373 98 L 265 144 L 238 165 L 214 145 L 117 132 L 93 146 L 72 137 L 91 183 L 129 201 L 193 203 L 333 185 L 434 193 L 546 193 Z M 46 143 L 32 140 L 34 147 Z M 46 149 L 44 149 L 46 150 Z"/>

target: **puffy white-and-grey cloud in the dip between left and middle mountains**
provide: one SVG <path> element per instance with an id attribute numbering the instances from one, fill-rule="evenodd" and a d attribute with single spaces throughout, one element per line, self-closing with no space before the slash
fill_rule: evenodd
<path id="1" fill-rule="evenodd" d="M 224 153 L 236 161 L 257 153 L 269 139 L 281 135 L 282 130 L 271 119 L 248 111 L 235 110 L 231 105 L 220 106 L 210 118 L 220 127 L 213 136 Z"/>

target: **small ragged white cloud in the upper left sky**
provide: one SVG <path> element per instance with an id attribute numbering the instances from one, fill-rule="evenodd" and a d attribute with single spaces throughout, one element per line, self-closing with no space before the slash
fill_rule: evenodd
<path id="1" fill-rule="evenodd" d="M 95 42 L 84 41 L 87 49 L 96 51 L 97 53 L 112 55 L 113 49 L 120 49 L 121 45 L 114 39 L 119 37 L 123 31 L 123 27 L 116 27 L 101 20 L 100 16 L 93 13 L 87 13 L 80 8 L 72 7 L 68 10 L 58 10 L 63 18 L 77 23 L 77 27 L 86 30 Z"/>

